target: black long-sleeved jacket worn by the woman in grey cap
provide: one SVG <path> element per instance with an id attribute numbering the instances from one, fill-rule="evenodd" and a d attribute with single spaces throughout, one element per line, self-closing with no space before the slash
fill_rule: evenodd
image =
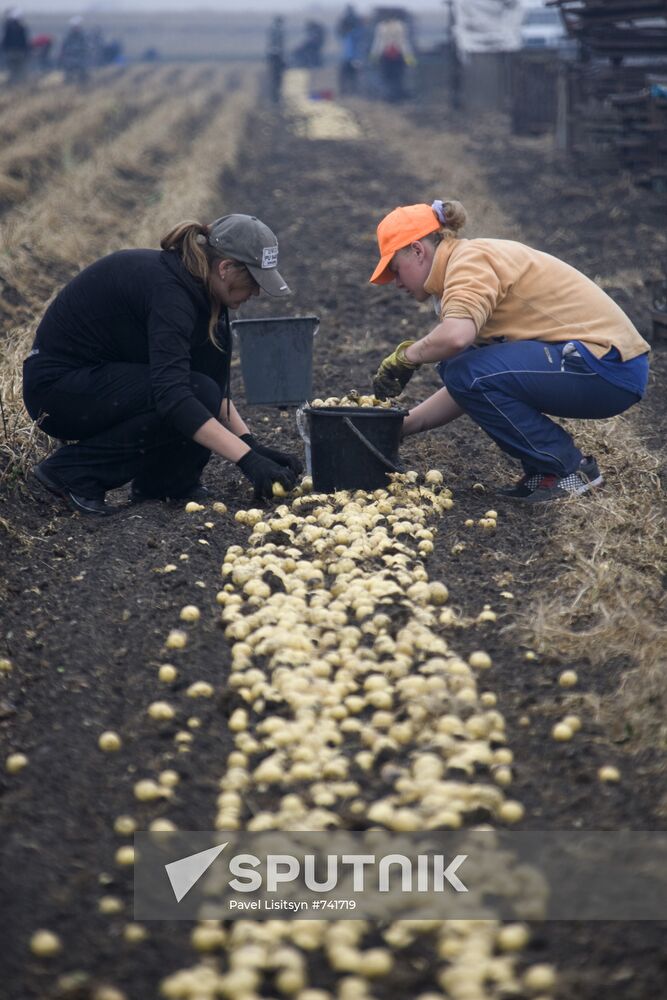
<path id="1" fill-rule="evenodd" d="M 37 328 L 33 352 L 68 366 L 125 361 L 150 368 L 155 408 L 186 437 L 211 414 L 195 397 L 190 373 L 229 392 L 231 336 L 223 307 L 208 335 L 206 289 L 175 251 L 120 250 L 91 264 L 58 293 Z"/>

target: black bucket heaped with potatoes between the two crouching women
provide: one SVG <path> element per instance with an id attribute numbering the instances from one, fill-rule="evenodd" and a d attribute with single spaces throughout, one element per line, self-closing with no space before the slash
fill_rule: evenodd
<path id="1" fill-rule="evenodd" d="M 397 407 L 306 407 L 313 490 L 377 490 L 401 472 L 398 446 L 407 410 Z"/>

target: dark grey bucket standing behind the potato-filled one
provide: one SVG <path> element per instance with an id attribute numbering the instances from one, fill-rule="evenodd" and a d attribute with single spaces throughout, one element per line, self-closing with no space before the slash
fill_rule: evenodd
<path id="1" fill-rule="evenodd" d="M 312 395 L 313 337 L 317 316 L 237 319 L 232 330 L 241 345 L 246 402 L 298 405 Z"/>

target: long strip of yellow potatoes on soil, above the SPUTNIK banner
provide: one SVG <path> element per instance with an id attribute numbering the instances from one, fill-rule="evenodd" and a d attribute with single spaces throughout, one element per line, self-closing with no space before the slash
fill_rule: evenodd
<path id="1" fill-rule="evenodd" d="M 306 494 L 236 515 L 248 547 L 228 549 L 217 600 L 244 707 L 229 720 L 236 751 L 219 829 L 335 827 L 341 798 L 401 832 L 459 829 L 479 810 L 504 823 L 523 815 L 504 794 L 504 719 L 478 687 L 491 658 L 465 660 L 439 634 L 458 616 L 423 560 L 451 493 L 437 470 L 393 479 L 387 490 Z M 268 712 L 277 702 L 283 711 Z M 391 775 L 379 763 L 387 755 Z M 378 796 L 380 771 L 389 781 Z M 272 803 L 280 789 L 285 808 Z"/>

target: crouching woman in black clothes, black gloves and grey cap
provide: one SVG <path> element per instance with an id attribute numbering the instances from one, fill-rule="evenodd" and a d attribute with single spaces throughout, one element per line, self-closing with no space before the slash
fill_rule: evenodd
<path id="1" fill-rule="evenodd" d="M 291 455 L 260 445 L 229 396 L 228 309 L 289 294 L 278 241 L 249 215 L 183 222 L 162 250 L 121 250 L 81 271 L 56 296 L 25 361 L 30 416 L 66 440 L 33 473 L 83 513 L 130 500 L 202 499 L 211 452 L 236 462 L 255 497 L 290 489 Z"/>

